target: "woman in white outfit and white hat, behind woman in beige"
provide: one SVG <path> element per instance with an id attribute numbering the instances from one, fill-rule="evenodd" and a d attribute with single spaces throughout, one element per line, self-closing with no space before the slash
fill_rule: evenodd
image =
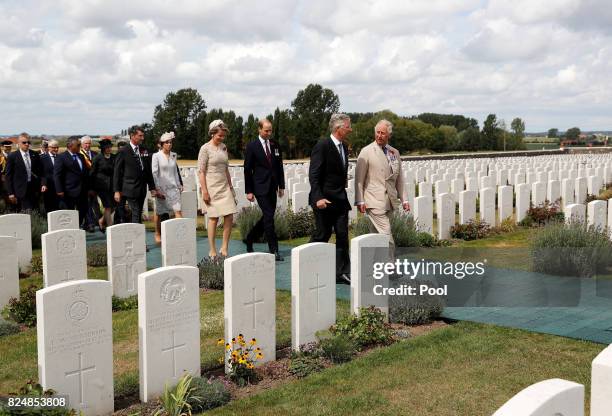
<path id="1" fill-rule="evenodd" d="M 182 218 L 181 192 L 183 180 L 176 163 L 176 153 L 171 152 L 174 132 L 164 133 L 159 139 L 160 149 L 153 154 L 151 170 L 155 181 L 155 241 L 161 242 L 161 219 L 169 218 L 174 213 L 175 218 Z"/>

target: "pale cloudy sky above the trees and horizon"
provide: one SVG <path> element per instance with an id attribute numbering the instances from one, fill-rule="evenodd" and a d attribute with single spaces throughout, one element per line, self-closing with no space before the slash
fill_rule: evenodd
<path id="1" fill-rule="evenodd" d="M 0 134 L 112 134 L 166 93 L 612 129 L 606 0 L 0 0 Z"/>

